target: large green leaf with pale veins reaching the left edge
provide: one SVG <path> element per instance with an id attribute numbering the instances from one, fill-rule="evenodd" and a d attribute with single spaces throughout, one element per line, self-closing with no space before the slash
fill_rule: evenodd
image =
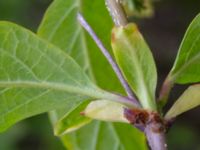
<path id="1" fill-rule="evenodd" d="M 110 95 L 66 53 L 9 22 L 0 22 L 0 72 L 0 131 L 72 100 Z"/>

